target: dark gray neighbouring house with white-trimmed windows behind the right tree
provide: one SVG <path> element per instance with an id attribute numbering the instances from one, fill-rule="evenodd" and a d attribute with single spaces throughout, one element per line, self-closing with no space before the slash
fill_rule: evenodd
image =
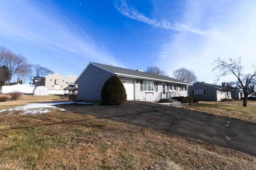
<path id="1" fill-rule="evenodd" d="M 221 101 L 221 99 L 241 99 L 243 92 L 226 87 L 226 83 L 213 85 L 204 82 L 196 82 L 188 87 L 188 95 L 199 101 Z"/>

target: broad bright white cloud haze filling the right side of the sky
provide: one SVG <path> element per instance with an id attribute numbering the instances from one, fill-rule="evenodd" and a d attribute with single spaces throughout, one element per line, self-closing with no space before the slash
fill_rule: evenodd
<path id="1" fill-rule="evenodd" d="M 188 1 L 190 5 L 194 1 Z M 256 2 L 218 0 L 204 3 L 204 0 L 184 10 L 185 23 L 212 27 L 210 34 L 197 36 L 189 32 L 170 35 L 162 43 L 158 64 L 167 68 L 169 75 L 179 67 L 192 69 L 198 79 L 212 83 L 218 71 L 211 72 L 211 63 L 218 57 L 242 57 L 246 68 L 256 63 Z M 196 11 L 196 20 L 193 15 Z M 248 70 L 247 70 L 248 71 Z M 223 77 L 231 81 L 235 77 Z"/>

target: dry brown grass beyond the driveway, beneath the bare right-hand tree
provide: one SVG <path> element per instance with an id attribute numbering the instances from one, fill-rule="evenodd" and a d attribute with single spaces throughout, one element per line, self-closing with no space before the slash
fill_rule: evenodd
<path id="1" fill-rule="evenodd" d="M 243 101 L 200 101 L 192 105 L 177 107 L 256 123 L 256 102 L 248 101 L 247 107 L 242 107 L 242 105 Z"/>

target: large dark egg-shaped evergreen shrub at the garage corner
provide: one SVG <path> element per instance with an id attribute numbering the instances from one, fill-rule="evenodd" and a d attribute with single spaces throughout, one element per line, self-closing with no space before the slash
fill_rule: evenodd
<path id="1" fill-rule="evenodd" d="M 127 102 L 123 83 L 116 75 L 112 75 L 104 84 L 101 91 L 103 105 L 122 105 Z"/>

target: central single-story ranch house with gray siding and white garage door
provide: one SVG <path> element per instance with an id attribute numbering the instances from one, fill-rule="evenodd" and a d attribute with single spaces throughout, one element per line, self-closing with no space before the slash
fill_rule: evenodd
<path id="1" fill-rule="evenodd" d="M 127 100 L 159 101 L 175 96 L 188 96 L 188 85 L 177 79 L 110 65 L 90 62 L 75 83 L 78 84 L 78 100 L 101 102 L 101 90 L 112 75 L 124 84 Z"/>

